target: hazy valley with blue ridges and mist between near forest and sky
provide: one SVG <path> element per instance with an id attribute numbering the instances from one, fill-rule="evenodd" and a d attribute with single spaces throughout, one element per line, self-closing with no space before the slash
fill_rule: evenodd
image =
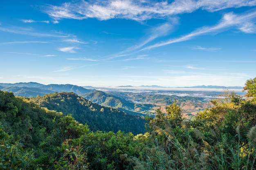
<path id="1" fill-rule="evenodd" d="M 160 86 L 121 86 L 92 87 L 76 85 L 43 85 L 40 83 L 0 83 L 2 91 L 13 92 L 16 96 L 36 97 L 55 92 L 74 92 L 75 94 L 104 107 L 112 107 L 125 113 L 138 116 L 154 116 L 155 110 L 176 102 L 186 118 L 212 107 L 211 100 L 219 98 L 229 88 L 236 94 L 244 95 L 242 87 L 196 86 L 196 87 L 160 87 Z"/>

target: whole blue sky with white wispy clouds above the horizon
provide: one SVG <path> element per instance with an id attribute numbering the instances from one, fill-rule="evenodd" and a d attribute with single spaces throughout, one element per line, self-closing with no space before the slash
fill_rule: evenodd
<path id="1" fill-rule="evenodd" d="M 0 83 L 244 86 L 256 0 L 1 0 Z"/>

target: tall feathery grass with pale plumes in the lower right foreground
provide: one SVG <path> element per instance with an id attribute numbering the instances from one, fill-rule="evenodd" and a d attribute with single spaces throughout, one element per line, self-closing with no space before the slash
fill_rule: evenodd
<path id="1" fill-rule="evenodd" d="M 145 170 L 255 170 L 256 169 L 256 126 L 248 132 L 248 143 L 240 143 L 240 131 L 237 130 L 236 145 L 227 145 L 228 141 L 217 127 L 213 129 L 215 142 L 209 140 L 198 129 L 183 129 L 183 141 L 179 141 L 174 129 L 165 124 L 165 129 L 153 126 L 151 148 L 144 149 L 144 157 L 134 169 Z M 191 137 L 191 134 L 194 136 Z M 215 134 L 215 135 L 214 135 Z M 218 134 L 218 137 L 217 137 Z M 213 140 L 213 139 L 212 139 Z"/>

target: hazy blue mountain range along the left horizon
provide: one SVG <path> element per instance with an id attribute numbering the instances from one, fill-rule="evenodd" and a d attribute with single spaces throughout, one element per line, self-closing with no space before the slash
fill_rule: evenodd
<path id="1" fill-rule="evenodd" d="M 36 97 L 37 95 L 43 96 L 45 94 L 54 92 L 74 92 L 78 95 L 93 92 L 94 89 L 85 89 L 77 85 L 43 85 L 40 83 L 0 83 L 2 91 L 13 92 L 16 96 Z"/>

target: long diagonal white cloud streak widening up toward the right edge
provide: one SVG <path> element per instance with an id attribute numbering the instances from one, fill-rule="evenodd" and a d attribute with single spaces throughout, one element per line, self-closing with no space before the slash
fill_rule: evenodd
<path id="1" fill-rule="evenodd" d="M 156 48 L 160 46 L 166 46 L 168 44 L 187 41 L 200 35 L 205 35 L 209 33 L 218 33 L 218 32 L 227 30 L 227 28 L 229 27 L 234 27 L 234 26 L 240 29 L 241 31 L 244 31 L 245 33 L 252 33 L 252 32 L 248 32 L 248 30 L 255 29 L 256 26 L 251 21 L 254 18 L 256 18 L 256 11 L 245 13 L 243 15 L 235 15 L 234 13 L 227 13 L 222 17 L 222 20 L 220 20 L 219 24 L 215 26 L 211 26 L 211 27 L 204 26 L 202 28 L 199 28 L 193 31 L 192 33 L 189 33 L 188 35 L 184 35 L 176 39 L 169 39 L 168 41 L 157 43 L 152 46 L 148 46 L 146 48 L 143 48 L 142 50 L 147 50 L 147 49 Z M 246 24 L 247 26 L 248 25 L 253 26 L 253 28 L 242 29 L 243 26 L 245 26 Z"/>

